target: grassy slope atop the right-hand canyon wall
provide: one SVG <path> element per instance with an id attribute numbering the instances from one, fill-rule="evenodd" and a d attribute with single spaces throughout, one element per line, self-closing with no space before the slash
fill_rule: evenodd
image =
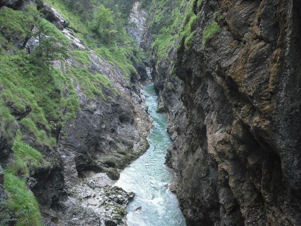
<path id="1" fill-rule="evenodd" d="M 156 11 L 149 27 L 158 33 L 155 36 L 153 51 L 158 56 L 159 61 L 168 60 L 170 49 L 175 48 L 180 43 L 184 44 L 185 51 L 190 49 L 196 34 L 197 18 L 200 17 L 200 10 L 203 5 L 203 0 L 177 0 L 173 2 L 176 7 L 168 1 L 153 0 L 153 9 Z M 212 22 L 203 31 L 202 49 L 211 37 L 221 31 L 218 22 L 223 19 L 223 16 L 219 12 L 215 12 L 213 16 L 216 22 Z M 159 29 L 161 30 L 158 32 Z"/>

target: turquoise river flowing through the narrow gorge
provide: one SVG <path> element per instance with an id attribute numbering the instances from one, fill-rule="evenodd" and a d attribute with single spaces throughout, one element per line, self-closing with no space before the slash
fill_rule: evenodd
<path id="1" fill-rule="evenodd" d="M 166 149 L 171 145 L 166 132 L 166 117 L 157 113 L 154 85 L 144 87 L 148 113 L 154 129 L 148 136 L 149 149 L 128 166 L 116 186 L 134 192 L 135 198 L 127 208 L 128 226 L 185 226 L 175 194 L 166 189 L 173 173 L 164 165 Z M 137 208 L 141 207 L 140 210 Z"/>

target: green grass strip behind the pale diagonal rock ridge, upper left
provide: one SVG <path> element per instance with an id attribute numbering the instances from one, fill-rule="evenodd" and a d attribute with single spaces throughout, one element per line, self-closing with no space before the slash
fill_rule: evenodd
<path id="1" fill-rule="evenodd" d="M 86 46 L 95 49 L 99 57 L 106 60 L 112 66 L 117 66 L 126 80 L 130 80 L 131 73 L 137 73 L 131 58 L 137 63 L 141 63 L 142 59 L 140 55 L 142 55 L 142 52 L 139 48 L 134 46 L 132 38 L 125 30 L 125 26 L 121 26 L 121 28 L 118 29 L 118 33 L 110 37 L 110 42 L 107 42 L 106 37 L 95 33 L 89 20 L 84 22 L 77 12 L 69 10 L 63 1 L 48 0 L 48 2 L 70 22 L 72 28 L 78 31 L 74 32 L 74 35 L 81 39 Z M 116 25 L 121 22 L 122 20 L 120 20 L 119 17 L 116 18 Z M 97 47 L 99 44 L 100 47 Z M 134 52 L 137 54 L 134 54 Z M 84 66 L 89 65 L 88 68 L 90 68 L 88 51 L 76 50 L 70 54 L 79 64 Z"/>

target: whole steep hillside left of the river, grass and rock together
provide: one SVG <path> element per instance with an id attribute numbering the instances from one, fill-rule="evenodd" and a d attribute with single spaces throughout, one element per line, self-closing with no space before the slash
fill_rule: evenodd
<path id="1" fill-rule="evenodd" d="M 150 119 L 132 3 L 108 2 L 0 1 L 1 225 L 124 224 L 133 194 L 113 180 L 147 149 Z"/>

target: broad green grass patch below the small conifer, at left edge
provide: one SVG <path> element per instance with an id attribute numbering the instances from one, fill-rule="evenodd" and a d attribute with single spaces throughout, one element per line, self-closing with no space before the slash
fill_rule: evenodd
<path id="1" fill-rule="evenodd" d="M 0 94 L 3 99 L 0 111 L 3 112 L 2 115 L 6 115 L 1 120 L 13 121 L 12 116 L 9 116 L 11 113 L 8 106 L 23 112 L 25 105 L 29 105 L 32 110 L 24 125 L 39 137 L 40 142 L 47 137 L 47 131 L 37 132 L 33 124 L 43 125 L 50 130 L 50 121 L 62 123 L 74 117 L 79 109 L 79 100 L 71 79 L 58 69 L 48 73 L 43 66 L 34 65 L 30 58 L 17 54 L 0 54 L 0 77 L 0 85 L 5 87 Z M 65 109 L 64 113 L 62 109 Z M 2 130 L 8 131 L 8 126 L 5 125 Z M 48 141 L 46 139 L 47 145 L 53 147 L 53 141 Z"/>

